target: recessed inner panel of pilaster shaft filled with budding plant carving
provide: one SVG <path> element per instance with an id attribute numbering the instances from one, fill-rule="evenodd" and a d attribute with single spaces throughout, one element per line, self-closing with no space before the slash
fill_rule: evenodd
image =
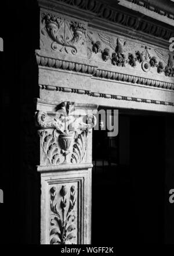
<path id="1" fill-rule="evenodd" d="M 77 183 L 50 188 L 50 244 L 78 244 Z"/>

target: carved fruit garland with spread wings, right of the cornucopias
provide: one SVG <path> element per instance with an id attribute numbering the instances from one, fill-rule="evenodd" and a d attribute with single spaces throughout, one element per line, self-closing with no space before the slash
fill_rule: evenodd
<path id="1" fill-rule="evenodd" d="M 92 32 L 89 32 L 93 34 Z M 132 43 L 124 43 L 121 42 L 119 38 L 117 41 L 113 37 L 107 36 L 106 34 L 98 33 L 100 40 L 108 45 L 113 52 L 111 52 L 110 48 L 102 48 L 101 41 L 94 42 L 92 36 L 88 34 L 89 41 L 92 43 L 92 51 L 95 54 L 102 54 L 103 61 L 111 60 L 111 64 L 117 66 L 125 66 L 127 63 L 132 67 L 137 65 L 139 62 L 142 66 L 144 72 L 150 71 L 151 68 L 157 68 L 158 73 L 164 72 L 166 76 L 174 76 L 174 57 L 169 54 L 169 58 L 166 59 L 164 55 L 160 53 L 157 49 L 154 49 L 157 56 L 164 60 L 167 64 L 166 66 L 162 61 L 157 61 L 157 57 L 154 55 L 151 57 L 149 50 L 151 48 L 147 47 L 146 45 L 142 45 L 143 50 L 134 50 L 135 46 L 133 47 Z M 104 49 L 104 50 L 103 50 Z M 91 56 L 90 56 L 91 57 Z"/>

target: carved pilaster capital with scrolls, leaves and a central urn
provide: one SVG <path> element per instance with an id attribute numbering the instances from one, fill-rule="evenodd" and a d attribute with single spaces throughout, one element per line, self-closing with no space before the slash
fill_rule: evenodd
<path id="1" fill-rule="evenodd" d="M 74 103 L 64 102 L 55 113 L 38 111 L 41 165 L 85 163 L 89 134 L 96 124 L 93 114 L 75 114 Z"/>

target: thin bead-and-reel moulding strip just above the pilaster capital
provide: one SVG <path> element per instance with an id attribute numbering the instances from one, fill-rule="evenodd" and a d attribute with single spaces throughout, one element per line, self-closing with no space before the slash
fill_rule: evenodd
<path id="1" fill-rule="evenodd" d="M 43 90 L 56 90 L 57 92 L 86 94 L 90 97 L 102 97 L 106 99 L 135 101 L 137 103 L 142 102 L 147 104 L 158 104 L 158 105 L 174 107 L 174 102 L 168 102 L 168 101 L 158 101 L 158 100 L 142 99 L 142 98 L 136 98 L 136 97 L 126 97 L 126 96 L 121 96 L 116 94 L 97 93 L 89 90 L 81 90 L 81 89 L 74 89 L 70 87 L 61 87 L 61 86 L 39 85 L 39 87 Z"/>

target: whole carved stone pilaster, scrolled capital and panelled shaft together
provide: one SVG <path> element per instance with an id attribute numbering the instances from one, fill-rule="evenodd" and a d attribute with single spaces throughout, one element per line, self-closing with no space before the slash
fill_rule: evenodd
<path id="1" fill-rule="evenodd" d="M 72 102 L 59 106 L 37 103 L 41 244 L 90 244 L 92 128 L 96 107 Z"/>

